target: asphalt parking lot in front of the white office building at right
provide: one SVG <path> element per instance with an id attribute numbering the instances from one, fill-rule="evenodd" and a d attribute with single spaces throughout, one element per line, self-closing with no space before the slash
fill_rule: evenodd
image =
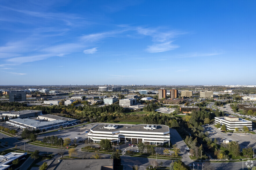
<path id="1" fill-rule="evenodd" d="M 223 140 L 228 141 L 237 141 L 240 144 L 241 148 L 246 147 L 256 147 L 256 135 L 250 133 L 222 133 L 221 130 L 218 130 L 213 125 L 203 126 L 203 127 L 212 127 L 213 130 L 204 130 L 204 132 L 208 132 L 210 138 L 216 138 L 218 143 L 221 144 Z M 215 132 L 210 132 L 215 131 Z"/>

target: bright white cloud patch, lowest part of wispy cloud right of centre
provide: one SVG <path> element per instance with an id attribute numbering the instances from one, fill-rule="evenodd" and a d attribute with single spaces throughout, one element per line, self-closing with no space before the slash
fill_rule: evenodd
<path id="1" fill-rule="evenodd" d="M 160 44 L 153 44 L 148 46 L 146 49 L 149 53 L 159 53 L 164 51 L 169 51 L 178 48 L 178 45 L 171 44 L 172 42 L 160 43 Z"/>

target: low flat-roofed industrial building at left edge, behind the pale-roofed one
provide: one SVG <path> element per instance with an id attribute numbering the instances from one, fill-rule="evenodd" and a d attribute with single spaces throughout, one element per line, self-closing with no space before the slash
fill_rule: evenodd
<path id="1" fill-rule="evenodd" d="M 25 118 L 25 117 L 33 117 L 42 114 L 41 110 L 21 110 L 21 111 L 0 111 L 0 114 L 5 117 L 6 115 L 9 118 L 16 117 L 17 118 Z"/>

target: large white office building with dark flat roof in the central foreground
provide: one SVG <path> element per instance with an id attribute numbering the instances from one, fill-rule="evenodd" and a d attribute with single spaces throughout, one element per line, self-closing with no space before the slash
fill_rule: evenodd
<path id="1" fill-rule="evenodd" d="M 166 125 L 95 125 L 88 133 L 89 141 L 100 143 L 101 139 L 109 139 L 111 142 L 120 143 L 132 141 L 132 143 L 142 142 L 148 145 L 170 146 L 170 130 Z"/>

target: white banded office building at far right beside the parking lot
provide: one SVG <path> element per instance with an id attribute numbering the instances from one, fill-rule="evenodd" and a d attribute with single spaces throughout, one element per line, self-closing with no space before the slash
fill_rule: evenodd
<path id="1" fill-rule="evenodd" d="M 227 130 L 235 130 L 235 128 L 242 130 L 244 126 L 248 127 L 249 130 L 252 130 L 252 121 L 240 119 L 238 117 L 215 117 L 214 119 L 215 125 L 217 123 L 226 125 Z"/>

